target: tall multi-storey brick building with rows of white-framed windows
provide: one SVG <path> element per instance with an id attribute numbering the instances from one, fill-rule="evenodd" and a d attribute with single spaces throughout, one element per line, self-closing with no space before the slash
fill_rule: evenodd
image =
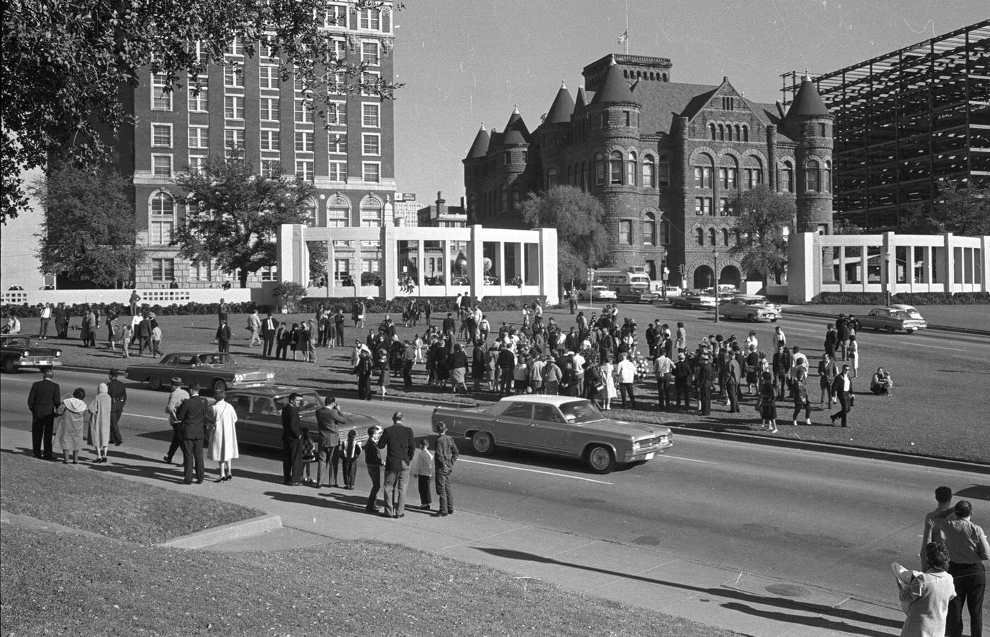
<path id="1" fill-rule="evenodd" d="M 391 82 L 395 37 L 390 3 L 360 11 L 347 2 L 327 4 L 328 16 L 336 18 L 326 20 L 324 29 L 337 43 L 338 56 L 368 62 L 367 74 Z M 139 287 L 163 286 L 172 279 L 191 288 L 237 280 L 236 273 L 218 272 L 211 264 L 190 264 L 168 245 L 183 212 L 179 202 L 184 193 L 174 185 L 174 175 L 235 146 L 244 149 L 259 172 L 280 164 L 286 176 L 312 181 L 317 190 L 310 202 L 315 226 L 392 223 L 392 102 L 348 93 L 342 74 L 339 91 L 330 96 L 328 129 L 314 113 L 312 97 L 294 81 L 281 81 L 275 60 L 263 52 L 247 57 L 244 43 L 231 43 L 226 63 L 210 65 L 198 95 L 191 89 L 166 92 L 164 77 L 150 72 L 141 86 L 124 89 L 124 103 L 136 125 L 120 133 L 117 164 L 133 178 L 139 243 L 147 248 L 135 273 Z M 336 276 L 377 270 L 374 255 L 349 249 L 335 249 Z M 256 284 L 275 278 L 268 268 L 248 280 Z"/>

